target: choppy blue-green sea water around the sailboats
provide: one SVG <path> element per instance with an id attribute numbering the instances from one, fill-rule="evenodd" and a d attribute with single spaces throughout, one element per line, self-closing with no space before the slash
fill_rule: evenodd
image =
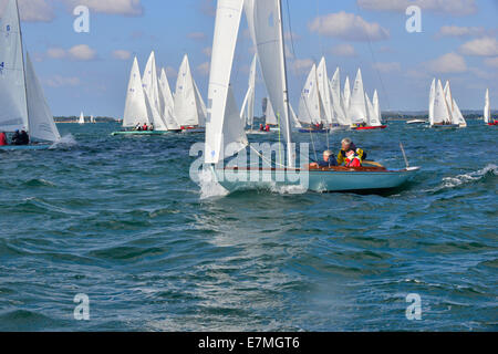
<path id="1" fill-rule="evenodd" d="M 188 174 L 201 135 L 60 128 L 76 144 L 0 153 L 0 330 L 498 329 L 495 127 L 347 133 L 392 167 L 404 142 L 423 170 L 396 195 L 207 199 Z"/>

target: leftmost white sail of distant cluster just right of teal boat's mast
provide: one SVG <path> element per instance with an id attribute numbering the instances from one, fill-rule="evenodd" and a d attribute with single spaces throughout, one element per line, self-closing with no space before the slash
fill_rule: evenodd
<path id="1" fill-rule="evenodd" d="M 304 124 L 320 124 L 322 122 L 317 76 L 317 65 L 313 64 L 301 92 L 299 102 L 299 118 Z"/>

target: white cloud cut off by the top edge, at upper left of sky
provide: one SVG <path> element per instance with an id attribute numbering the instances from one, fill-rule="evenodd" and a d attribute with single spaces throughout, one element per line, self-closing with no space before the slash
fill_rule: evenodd
<path id="1" fill-rule="evenodd" d="M 31 1 L 31 0 L 30 0 Z M 144 7 L 142 0 L 62 0 L 68 7 L 74 9 L 77 6 L 89 7 L 91 11 L 122 14 L 122 15 L 142 15 Z"/>

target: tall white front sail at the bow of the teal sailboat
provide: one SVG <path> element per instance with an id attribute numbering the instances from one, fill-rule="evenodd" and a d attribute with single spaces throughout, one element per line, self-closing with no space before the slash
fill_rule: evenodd
<path id="1" fill-rule="evenodd" d="M 240 119 L 230 87 L 242 6 L 243 0 L 218 0 L 209 73 L 209 104 L 206 119 L 205 147 L 206 164 L 218 164 L 221 162 L 225 158 L 227 146 L 230 146 L 231 153 L 236 154 L 248 145 L 243 123 Z M 184 75 L 184 71 L 180 71 L 179 76 Z M 176 117 L 179 118 L 179 116 Z"/>

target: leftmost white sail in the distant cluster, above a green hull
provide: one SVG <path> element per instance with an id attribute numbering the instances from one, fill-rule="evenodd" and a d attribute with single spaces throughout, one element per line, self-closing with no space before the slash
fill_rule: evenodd
<path id="1" fill-rule="evenodd" d="M 145 103 L 145 93 L 142 85 L 142 76 L 138 61 L 133 61 L 129 74 L 128 90 L 126 92 L 125 112 L 123 116 L 123 127 L 129 128 L 137 125 L 151 124 Z"/>

